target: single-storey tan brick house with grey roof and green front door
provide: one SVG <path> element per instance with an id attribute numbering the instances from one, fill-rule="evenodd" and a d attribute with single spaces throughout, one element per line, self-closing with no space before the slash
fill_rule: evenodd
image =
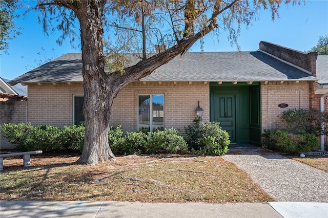
<path id="1" fill-rule="evenodd" d="M 187 53 L 119 92 L 110 125 L 183 130 L 199 101 L 202 119 L 220 121 L 233 143 L 261 146 L 262 129 L 283 127 L 281 112 L 327 111 L 328 55 L 317 56 L 265 41 L 254 52 Z M 81 54 L 68 53 L 10 81 L 28 86 L 27 121 L 83 122 L 81 69 Z"/>

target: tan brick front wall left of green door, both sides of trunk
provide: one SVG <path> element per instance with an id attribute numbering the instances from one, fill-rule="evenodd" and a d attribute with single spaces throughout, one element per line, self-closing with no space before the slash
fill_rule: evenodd
<path id="1" fill-rule="evenodd" d="M 28 86 L 28 122 L 33 125 L 72 125 L 73 95 L 83 95 L 82 83 L 42 83 Z M 124 131 L 137 128 L 138 94 L 163 94 L 165 127 L 180 128 L 192 123 L 200 101 L 203 120 L 209 120 L 209 84 L 203 82 L 135 82 L 118 93 L 112 105 L 110 125 L 122 125 Z"/>

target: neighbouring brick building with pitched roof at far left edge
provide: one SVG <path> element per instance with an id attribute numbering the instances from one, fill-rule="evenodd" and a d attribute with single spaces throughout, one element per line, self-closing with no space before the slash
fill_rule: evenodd
<path id="1" fill-rule="evenodd" d="M 0 77 L 0 125 L 3 123 L 27 122 L 27 89 L 26 86 L 9 85 L 9 80 Z M 5 139 L 0 139 L 0 146 L 13 148 Z"/>

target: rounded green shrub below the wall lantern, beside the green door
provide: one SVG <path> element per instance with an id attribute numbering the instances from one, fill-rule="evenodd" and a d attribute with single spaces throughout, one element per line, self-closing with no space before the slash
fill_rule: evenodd
<path id="1" fill-rule="evenodd" d="M 195 119 L 192 125 L 185 128 L 187 142 L 192 152 L 206 155 L 224 155 L 230 144 L 229 134 L 219 122 L 205 122 Z"/>

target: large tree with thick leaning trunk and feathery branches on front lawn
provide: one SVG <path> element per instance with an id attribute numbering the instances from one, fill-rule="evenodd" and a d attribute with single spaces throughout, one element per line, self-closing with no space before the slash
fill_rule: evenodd
<path id="1" fill-rule="evenodd" d="M 275 19 L 280 4 L 280 0 L 37 1 L 35 10 L 42 12 L 39 20 L 46 33 L 61 31 L 59 45 L 65 38 L 74 42 L 74 27 L 79 25 L 86 134 L 78 161 L 95 165 L 115 158 L 108 127 L 111 105 L 120 90 L 184 54 L 209 33 L 228 32 L 231 42 L 237 43 L 241 25 L 249 26 L 261 9 L 270 9 Z M 154 55 L 154 45 L 165 49 Z M 138 54 L 138 60 L 126 61 L 125 53 Z"/>

